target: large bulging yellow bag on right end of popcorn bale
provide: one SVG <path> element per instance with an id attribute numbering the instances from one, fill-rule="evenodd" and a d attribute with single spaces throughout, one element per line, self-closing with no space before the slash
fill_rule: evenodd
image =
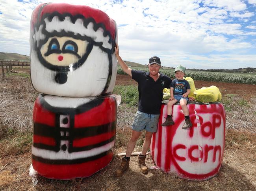
<path id="1" fill-rule="evenodd" d="M 194 91 L 195 99 L 198 102 L 210 103 L 210 102 L 219 102 L 221 100 L 221 92 L 219 88 L 212 85 L 210 87 L 202 87 Z"/>

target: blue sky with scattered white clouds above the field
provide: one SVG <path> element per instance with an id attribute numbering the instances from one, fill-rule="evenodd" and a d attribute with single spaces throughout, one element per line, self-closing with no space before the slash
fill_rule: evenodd
<path id="1" fill-rule="evenodd" d="M 30 16 L 48 1 L 0 0 L 0 52 L 29 55 Z M 256 67 L 256 0 L 55 0 L 106 12 L 123 60 L 164 66 Z"/>

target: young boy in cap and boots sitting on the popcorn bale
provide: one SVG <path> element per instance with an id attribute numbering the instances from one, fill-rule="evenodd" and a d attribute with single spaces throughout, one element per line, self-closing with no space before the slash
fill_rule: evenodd
<path id="1" fill-rule="evenodd" d="M 184 80 L 186 67 L 178 65 L 175 68 L 175 79 L 171 83 L 171 98 L 167 104 L 167 119 L 161 126 L 172 126 L 174 124 L 172 118 L 173 105 L 176 102 L 180 102 L 182 111 L 185 116 L 185 123 L 182 126 L 182 129 L 187 129 L 192 126 L 192 123 L 189 119 L 189 110 L 187 108 L 188 95 L 190 93 L 190 85 L 187 80 Z"/>

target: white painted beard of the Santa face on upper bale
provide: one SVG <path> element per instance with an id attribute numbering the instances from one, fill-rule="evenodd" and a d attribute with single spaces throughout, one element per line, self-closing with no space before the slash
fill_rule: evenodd
<path id="1" fill-rule="evenodd" d="M 113 58 L 112 78 L 106 93 L 111 93 L 115 85 L 117 60 Z M 67 82 L 58 84 L 54 78 L 58 72 L 46 68 L 37 57 L 37 52 L 31 52 L 31 80 L 33 87 L 48 95 L 67 97 L 98 96 L 102 93 L 109 73 L 108 54 L 99 47 L 93 46 L 91 53 L 82 66 L 67 72 Z"/>

